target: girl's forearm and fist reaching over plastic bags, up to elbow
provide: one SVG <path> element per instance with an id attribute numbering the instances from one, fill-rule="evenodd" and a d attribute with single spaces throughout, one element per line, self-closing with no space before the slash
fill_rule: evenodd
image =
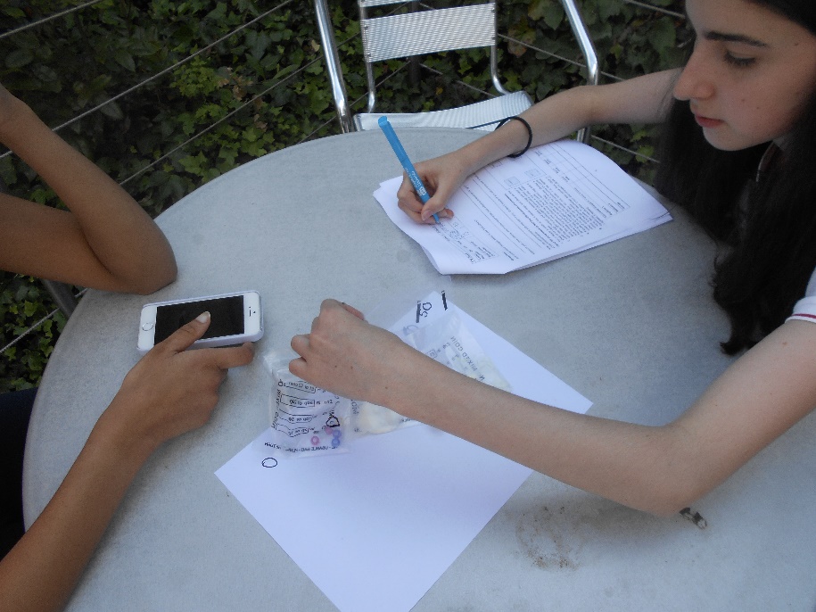
<path id="1" fill-rule="evenodd" d="M 393 409 L 633 508 L 669 514 L 701 484 L 716 484 L 699 471 L 686 473 L 681 459 L 700 450 L 689 443 L 688 424 L 639 426 L 525 400 L 446 368 L 334 300 L 321 304 L 311 332 L 294 336 L 292 348 L 300 358 L 290 371 L 313 385 Z"/>

